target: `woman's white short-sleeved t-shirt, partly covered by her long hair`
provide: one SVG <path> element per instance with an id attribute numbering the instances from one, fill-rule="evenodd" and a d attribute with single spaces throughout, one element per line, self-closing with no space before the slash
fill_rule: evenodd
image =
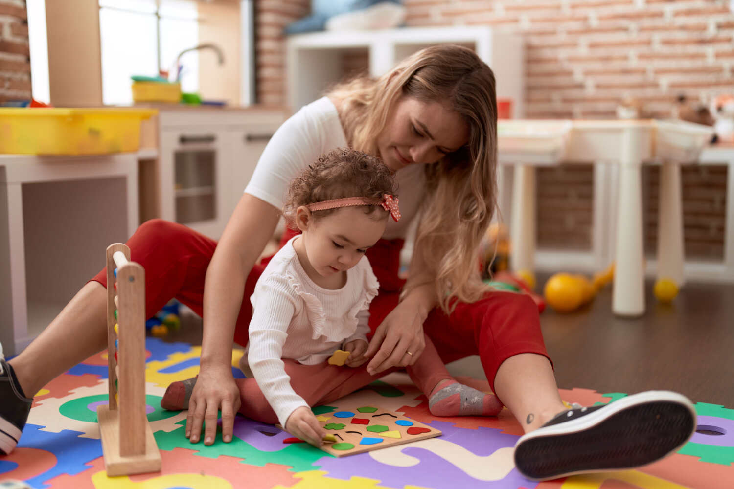
<path id="1" fill-rule="evenodd" d="M 329 98 L 319 98 L 303 106 L 275 131 L 244 191 L 281 209 L 291 180 L 321 154 L 346 145 L 336 107 Z M 395 178 L 401 219 L 388 220 L 382 235 L 386 239 L 406 238 L 424 196 L 424 165 L 406 166 L 396 172 Z"/>

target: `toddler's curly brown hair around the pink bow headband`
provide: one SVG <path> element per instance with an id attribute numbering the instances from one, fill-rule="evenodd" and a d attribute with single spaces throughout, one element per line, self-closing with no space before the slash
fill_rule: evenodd
<path id="1" fill-rule="evenodd" d="M 385 194 L 396 195 L 393 173 L 382 161 L 366 152 L 349 148 L 337 148 L 319 156 L 299 176 L 291 180 L 283 217 L 289 227 L 295 227 L 296 210 L 302 205 L 344 197 L 374 199 L 375 205 L 360 205 L 364 212 L 375 219 L 388 217 L 388 212 L 378 204 Z M 328 216 L 337 209 L 312 211 L 313 218 Z"/>

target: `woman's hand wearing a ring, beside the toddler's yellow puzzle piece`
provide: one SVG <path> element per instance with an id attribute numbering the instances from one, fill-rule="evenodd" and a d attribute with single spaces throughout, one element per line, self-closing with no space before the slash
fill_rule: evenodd
<path id="1" fill-rule="evenodd" d="M 377 326 L 365 353 L 367 358 L 374 356 L 367 365 L 367 372 L 374 375 L 391 367 L 410 367 L 415 364 L 426 347 L 423 336 L 425 319 L 426 315 L 407 300 L 390 311 Z"/>

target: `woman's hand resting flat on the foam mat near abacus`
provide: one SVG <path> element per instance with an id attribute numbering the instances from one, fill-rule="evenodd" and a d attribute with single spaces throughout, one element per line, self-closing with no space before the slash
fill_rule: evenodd
<path id="1" fill-rule="evenodd" d="M 232 441 L 234 416 L 239 405 L 239 389 L 232 376 L 232 367 L 225 364 L 201 367 L 189 400 L 186 438 L 192 443 L 199 441 L 201 425 L 206 422 L 204 444 L 213 444 L 217 435 L 217 412 L 221 409 L 222 440 Z"/>

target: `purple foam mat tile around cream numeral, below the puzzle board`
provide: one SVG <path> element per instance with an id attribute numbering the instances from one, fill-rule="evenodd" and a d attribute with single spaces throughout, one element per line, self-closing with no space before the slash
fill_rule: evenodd
<path id="1" fill-rule="evenodd" d="M 443 432 L 438 438 L 463 446 L 478 457 L 487 457 L 498 449 L 515 446 L 519 438 L 517 435 L 507 435 L 495 428 L 478 427 L 476 430 L 468 430 L 442 421 L 432 421 L 429 426 Z M 417 485 L 434 489 L 476 487 L 533 489 L 538 484 L 521 476 L 516 468 L 513 468 L 504 479 L 482 481 L 470 477 L 462 468 L 429 450 L 407 445 L 402 448 L 402 452 L 418 458 L 420 462 L 410 467 L 390 466 L 378 462 L 370 452 L 366 452 L 344 458 L 324 457 L 316 460 L 313 465 L 321 466 L 321 470 L 327 471 L 327 477 L 344 480 L 354 476 L 367 477 L 377 479 L 380 481 L 379 485 L 391 488 Z"/>

